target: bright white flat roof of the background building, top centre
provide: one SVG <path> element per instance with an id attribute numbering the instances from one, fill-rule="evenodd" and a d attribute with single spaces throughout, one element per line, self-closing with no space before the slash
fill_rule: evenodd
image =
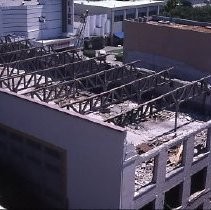
<path id="1" fill-rule="evenodd" d="M 143 0 L 143 1 L 74 1 L 74 4 L 83 4 L 88 6 L 98 6 L 105 8 L 122 8 L 122 7 L 133 7 L 133 6 L 144 6 L 144 5 L 159 5 L 163 4 L 163 1 Z"/>

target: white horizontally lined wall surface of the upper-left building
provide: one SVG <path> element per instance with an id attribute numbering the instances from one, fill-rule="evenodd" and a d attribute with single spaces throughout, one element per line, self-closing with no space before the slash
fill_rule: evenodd
<path id="1" fill-rule="evenodd" d="M 70 1 L 73 5 L 73 1 Z M 51 39 L 62 35 L 62 1 L 45 0 L 25 3 L 24 5 L 1 7 L 2 25 L 0 34 L 16 33 L 26 35 L 28 38 Z M 73 7 L 72 7 L 73 8 Z M 44 17 L 45 22 L 40 22 L 40 17 Z M 72 15 L 73 24 L 73 15 Z M 1 23 L 0 23 L 1 24 Z M 69 25 L 68 30 L 71 32 Z"/>

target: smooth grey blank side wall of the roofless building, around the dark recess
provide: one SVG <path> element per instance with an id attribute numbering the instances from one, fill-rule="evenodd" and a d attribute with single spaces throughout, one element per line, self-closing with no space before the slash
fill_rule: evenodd
<path id="1" fill-rule="evenodd" d="M 0 123 L 66 150 L 73 209 L 118 209 L 125 132 L 0 91 Z"/>

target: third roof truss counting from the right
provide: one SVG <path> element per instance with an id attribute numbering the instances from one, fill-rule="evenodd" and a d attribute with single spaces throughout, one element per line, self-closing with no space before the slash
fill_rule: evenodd
<path id="1" fill-rule="evenodd" d="M 146 76 L 146 72 L 135 67 L 139 62 L 132 62 L 121 67 L 111 68 L 57 85 L 42 87 L 27 93 L 27 95 L 29 94 L 32 98 L 37 97 L 41 101 L 49 102 L 63 97 L 75 97 L 80 91 L 90 91 L 97 87 L 107 90 L 109 84 L 123 84 L 125 81 Z"/>

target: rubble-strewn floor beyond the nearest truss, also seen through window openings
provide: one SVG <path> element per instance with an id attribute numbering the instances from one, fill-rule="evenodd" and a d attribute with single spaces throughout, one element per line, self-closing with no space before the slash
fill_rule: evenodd
<path id="1" fill-rule="evenodd" d="M 178 129 L 174 132 L 174 112 L 164 111 L 159 113 L 156 119 L 149 119 L 142 122 L 138 129 L 131 128 L 130 131 L 141 136 L 142 143 L 139 144 L 138 138 L 133 142 L 138 153 L 144 153 L 169 140 L 185 135 L 191 129 L 199 127 L 206 121 L 206 117 L 196 116 L 196 114 L 180 113 L 178 117 Z M 194 160 L 200 153 L 206 152 L 206 132 L 203 130 L 194 138 Z M 139 138 L 140 139 L 140 138 Z M 141 146 L 140 146 L 141 145 Z M 142 151 L 140 151 L 142 150 Z M 143 151 L 145 150 L 145 151 Z M 170 148 L 166 165 L 166 172 L 169 173 L 182 166 L 183 145 Z M 138 192 L 142 187 L 147 186 L 153 181 L 154 159 L 144 162 L 136 167 L 135 171 L 135 191 Z"/>

